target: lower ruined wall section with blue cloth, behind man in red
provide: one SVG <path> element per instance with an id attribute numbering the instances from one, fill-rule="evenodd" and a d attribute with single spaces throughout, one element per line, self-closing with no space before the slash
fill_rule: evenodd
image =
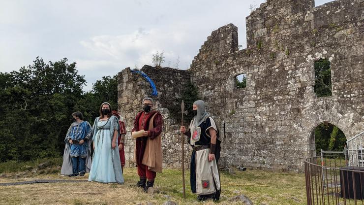
<path id="1" fill-rule="evenodd" d="M 152 88 L 149 82 L 140 74 L 132 73 L 130 68 L 125 68 L 118 73 L 118 107 L 124 118 L 127 134 L 125 136 L 125 160 L 126 167 L 135 166 L 133 162 L 135 140 L 131 137 L 131 129 L 134 126 L 136 114 L 143 109 L 142 100 L 151 97 L 154 108 L 158 110 L 164 119 L 162 132 L 163 167 L 178 168 L 181 166 L 182 155 L 181 136 L 178 135 L 180 125 L 173 118 L 177 113 L 171 113 L 170 109 L 177 112 L 181 109 L 181 88 L 189 82 L 190 75 L 186 70 L 173 68 L 154 68 L 144 66 L 140 69 L 152 79 L 158 91 L 158 96 L 151 96 Z M 178 110 L 180 111 L 180 110 Z M 189 147 L 185 146 L 185 166 L 188 168 Z"/>

